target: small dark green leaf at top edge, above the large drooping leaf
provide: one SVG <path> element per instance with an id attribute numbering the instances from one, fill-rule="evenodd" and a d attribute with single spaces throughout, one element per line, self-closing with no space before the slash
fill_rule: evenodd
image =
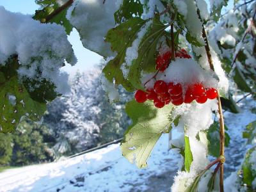
<path id="1" fill-rule="evenodd" d="M 114 14 L 116 24 L 125 22 L 133 17 L 141 17 L 143 13 L 143 5 L 139 0 L 124 0 L 120 9 Z"/>

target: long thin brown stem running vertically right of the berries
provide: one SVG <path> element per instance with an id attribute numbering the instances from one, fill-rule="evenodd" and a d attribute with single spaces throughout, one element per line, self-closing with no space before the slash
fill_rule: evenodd
<path id="1" fill-rule="evenodd" d="M 197 9 L 197 13 L 198 13 L 198 17 L 199 19 L 202 21 L 201 15 L 200 15 L 200 10 Z M 203 21 L 202 21 L 203 23 Z M 207 54 L 207 58 L 208 58 L 208 62 L 210 65 L 211 70 L 214 71 L 214 65 L 212 62 L 212 56 L 211 56 L 211 52 L 210 52 L 210 46 L 207 40 L 207 35 L 205 33 L 205 28 L 204 28 L 204 24 L 202 24 L 202 36 L 204 38 L 205 41 L 205 51 Z M 220 100 L 220 92 L 217 90 L 218 92 L 218 112 L 220 114 L 220 157 L 221 157 L 221 162 L 220 162 L 220 191 L 223 192 L 224 191 L 224 187 L 223 187 L 223 175 L 224 175 L 224 162 L 225 162 L 225 154 L 224 154 L 224 150 L 225 150 L 225 127 L 224 127 L 224 118 L 223 118 L 223 113 L 222 113 L 222 107 L 221 107 L 221 100 Z"/>

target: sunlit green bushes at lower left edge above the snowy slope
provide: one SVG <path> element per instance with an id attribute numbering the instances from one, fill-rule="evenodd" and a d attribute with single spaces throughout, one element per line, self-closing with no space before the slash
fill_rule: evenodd
<path id="1" fill-rule="evenodd" d="M 49 138 L 47 127 L 28 118 L 22 120 L 13 134 L 0 133 L 0 165 L 21 166 L 52 161 L 46 143 Z"/>

